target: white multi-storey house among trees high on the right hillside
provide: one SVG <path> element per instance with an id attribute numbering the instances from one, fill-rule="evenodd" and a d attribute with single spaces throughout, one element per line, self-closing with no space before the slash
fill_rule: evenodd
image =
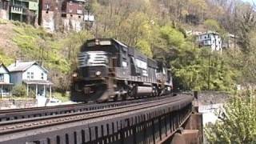
<path id="1" fill-rule="evenodd" d="M 206 32 L 197 36 L 197 42 L 200 46 L 209 46 L 212 51 L 222 51 L 222 38 L 216 32 Z"/>

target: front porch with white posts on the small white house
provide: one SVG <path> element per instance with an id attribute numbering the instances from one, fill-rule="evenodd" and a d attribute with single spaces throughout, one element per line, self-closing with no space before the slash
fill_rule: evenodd
<path id="1" fill-rule="evenodd" d="M 52 82 L 44 80 L 24 80 L 23 83 L 26 86 L 27 96 L 34 94 L 38 97 L 50 97 L 51 98 L 51 86 Z"/>

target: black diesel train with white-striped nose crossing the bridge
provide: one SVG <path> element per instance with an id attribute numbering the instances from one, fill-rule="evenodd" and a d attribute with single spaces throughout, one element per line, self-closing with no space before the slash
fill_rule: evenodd
<path id="1" fill-rule="evenodd" d="M 170 70 L 114 38 L 86 41 L 72 75 L 71 100 L 107 102 L 157 97 L 173 89 Z"/>

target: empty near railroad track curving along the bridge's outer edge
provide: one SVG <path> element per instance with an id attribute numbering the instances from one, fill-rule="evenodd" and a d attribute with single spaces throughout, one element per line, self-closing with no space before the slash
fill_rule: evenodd
<path id="1" fill-rule="evenodd" d="M 187 98 L 187 96 L 162 98 L 156 101 L 142 102 L 128 106 L 118 106 L 110 109 L 91 110 L 81 113 L 58 114 L 42 118 L 25 118 L 11 122 L 1 122 L 0 135 L 13 134 L 15 132 L 34 130 L 48 126 L 57 126 L 60 124 L 68 124 L 70 122 L 92 120 L 94 118 L 105 118 L 116 114 L 128 114 L 138 110 L 154 109 L 157 106 L 174 105 L 175 102 L 184 101 L 187 100 Z"/>

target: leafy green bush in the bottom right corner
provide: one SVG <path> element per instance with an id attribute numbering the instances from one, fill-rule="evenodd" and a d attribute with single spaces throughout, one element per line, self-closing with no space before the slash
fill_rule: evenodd
<path id="1" fill-rule="evenodd" d="M 205 129 L 209 143 L 256 142 L 256 93 L 246 91 L 230 98 L 215 124 Z"/>

